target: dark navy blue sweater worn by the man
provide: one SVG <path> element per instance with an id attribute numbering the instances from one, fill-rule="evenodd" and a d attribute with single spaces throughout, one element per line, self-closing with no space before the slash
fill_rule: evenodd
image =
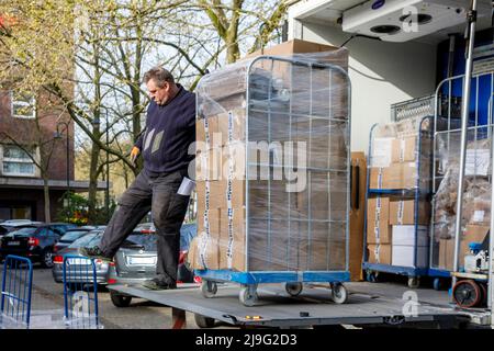
<path id="1" fill-rule="evenodd" d="M 150 102 L 145 133 L 135 144 L 144 169 L 151 173 L 184 170 L 194 158 L 189 146 L 195 141 L 195 94 L 178 87 L 179 92 L 166 105 Z"/>

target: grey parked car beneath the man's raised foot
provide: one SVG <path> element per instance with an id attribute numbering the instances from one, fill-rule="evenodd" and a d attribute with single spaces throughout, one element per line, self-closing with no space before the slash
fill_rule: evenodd
<path id="1" fill-rule="evenodd" d="M 70 272 L 76 272 L 77 274 L 70 274 L 70 280 L 68 283 L 92 283 L 92 270 L 88 268 L 88 260 L 81 260 L 77 257 L 82 258 L 78 250 L 80 247 L 85 246 L 96 246 L 99 245 L 101 238 L 103 237 L 103 230 L 96 229 L 89 230 L 85 236 L 75 240 L 67 248 L 57 251 L 54 257 L 54 265 L 52 269 L 52 275 L 56 283 L 64 282 L 64 260 L 68 256 L 74 256 L 74 258 L 67 258 L 70 264 Z M 94 260 L 96 263 L 96 274 L 97 284 L 104 285 L 108 283 L 109 267 L 113 262 L 104 262 L 102 260 Z"/>

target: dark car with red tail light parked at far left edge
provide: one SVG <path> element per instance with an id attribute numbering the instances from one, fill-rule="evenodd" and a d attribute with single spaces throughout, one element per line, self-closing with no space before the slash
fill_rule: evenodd
<path id="1" fill-rule="evenodd" d="M 24 226 L 4 235 L 0 242 L 0 260 L 8 254 L 26 257 L 45 268 L 53 267 L 53 249 L 61 237 L 61 231 L 52 225 Z"/>

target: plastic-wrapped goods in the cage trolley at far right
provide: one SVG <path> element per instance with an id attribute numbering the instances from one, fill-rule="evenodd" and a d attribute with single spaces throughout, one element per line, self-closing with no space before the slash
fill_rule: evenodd
<path id="1" fill-rule="evenodd" d="M 469 138 L 473 138 L 469 132 Z M 480 135 L 480 133 L 479 133 Z M 446 149 L 447 145 L 450 149 Z M 452 271 L 454 262 L 454 233 L 459 178 L 460 134 L 441 134 L 437 140 L 439 155 L 438 177 L 441 181 L 435 195 L 433 267 Z M 456 146 L 456 147 L 452 147 Z M 491 228 L 491 143 L 489 138 L 467 145 L 467 163 L 460 229 L 459 267 L 464 264 L 470 242 L 482 242 Z"/>

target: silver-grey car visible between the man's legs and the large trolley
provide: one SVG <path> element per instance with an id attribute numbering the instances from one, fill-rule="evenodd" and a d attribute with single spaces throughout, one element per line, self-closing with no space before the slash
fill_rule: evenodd
<path id="1" fill-rule="evenodd" d="M 157 236 L 148 226 L 137 226 L 125 240 L 110 267 L 109 284 L 141 284 L 156 275 Z M 154 228 L 154 226 L 153 226 Z M 195 223 L 183 224 L 180 229 L 180 258 L 177 273 L 178 283 L 194 282 L 194 274 L 186 265 L 190 241 L 197 235 Z M 116 307 L 127 307 L 132 296 L 111 291 L 110 297 Z"/>

